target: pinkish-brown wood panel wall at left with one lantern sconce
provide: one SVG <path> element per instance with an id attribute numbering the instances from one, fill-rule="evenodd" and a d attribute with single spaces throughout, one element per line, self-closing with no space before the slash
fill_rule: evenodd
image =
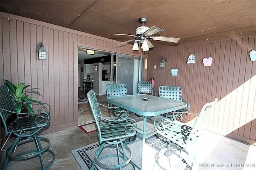
<path id="1" fill-rule="evenodd" d="M 43 90 L 39 100 L 51 104 L 52 132 L 77 126 L 78 46 L 137 56 L 132 45 L 116 47 L 114 40 L 1 12 L 0 84 L 17 80 Z M 47 60 L 38 60 L 43 41 Z M 145 55 L 147 57 L 147 54 Z M 37 97 L 37 96 L 36 96 Z"/>

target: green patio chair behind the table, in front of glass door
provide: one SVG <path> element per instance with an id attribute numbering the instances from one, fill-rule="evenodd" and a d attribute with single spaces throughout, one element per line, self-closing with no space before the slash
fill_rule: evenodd
<path id="1" fill-rule="evenodd" d="M 106 85 L 107 97 L 114 97 L 114 96 L 126 96 L 127 88 L 125 84 L 108 84 Z M 108 107 L 110 107 L 110 103 L 108 103 Z M 116 119 L 118 118 L 127 118 L 129 116 L 129 111 L 125 109 L 109 109 L 109 114 L 111 111 L 114 112 Z M 110 116 L 110 115 L 109 115 Z"/>

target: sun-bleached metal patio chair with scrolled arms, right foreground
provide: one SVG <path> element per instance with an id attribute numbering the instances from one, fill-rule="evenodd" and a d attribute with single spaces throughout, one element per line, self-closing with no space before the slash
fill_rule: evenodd
<path id="1" fill-rule="evenodd" d="M 170 121 L 169 119 L 166 119 L 168 123 L 163 123 L 161 118 L 155 119 L 154 127 L 158 134 L 160 134 L 161 137 L 164 137 L 163 141 L 167 143 L 166 147 L 160 150 L 160 152 L 158 153 L 159 158 L 160 156 L 162 158 L 167 150 L 174 148 L 180 152 L 181 167 L 181 163 L 186 162 L 186 160 L 182 160 L 181 152 L 183 150 L 186 154 L 190 156 L 190 159 L 193 160 L 191 165 L 187 164 L 188 168 L 191 169 L 192 166 L 196 164 L 195 157 L 191 153 L 193 144 L 198 140 L 200 132 L 204 127 L 204 123 L 212 112 L 212 109 L 217 101 L 218 99 L 215 98 L 214 101 L 206 103 L 198 114 L 195 123 L 192 125 L 177 121 Z"/>

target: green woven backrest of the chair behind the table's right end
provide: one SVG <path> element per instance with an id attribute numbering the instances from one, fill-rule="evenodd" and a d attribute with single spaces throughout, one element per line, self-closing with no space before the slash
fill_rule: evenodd
<path id="1" fill-rule="evenodd" d="M 178 86 L 160 86 L 159 97 L 182 101 L 182 90 Z"/>

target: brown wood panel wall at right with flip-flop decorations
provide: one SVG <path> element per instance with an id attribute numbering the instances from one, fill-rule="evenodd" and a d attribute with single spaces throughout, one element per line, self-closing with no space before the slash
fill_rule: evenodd
<path id="1" fill-rule="evenodd" d="M 205 103 L 218 98 L 207 128 L 255 143 L 256 61 L 249 57 L 253 49 L 256 33 L 158 47 L 149 53 L 148 80 L 154 77 L 157 95 L 160 85 L 180 86 L 184 99 L 190 102 L 190 113 L 199 113 Z M 196 56 L 195 64 L 186 63 L 190 54 Z M 167 57 L 165 68 L 159 68 L 162 57 Z M 204 57 L 213 58 L 210 67 L 204 67 Z M 172 68 L 178 69 L 177 76 L 172 76 Z M 185 116 L 187 121 L 194 118 Z"/>

